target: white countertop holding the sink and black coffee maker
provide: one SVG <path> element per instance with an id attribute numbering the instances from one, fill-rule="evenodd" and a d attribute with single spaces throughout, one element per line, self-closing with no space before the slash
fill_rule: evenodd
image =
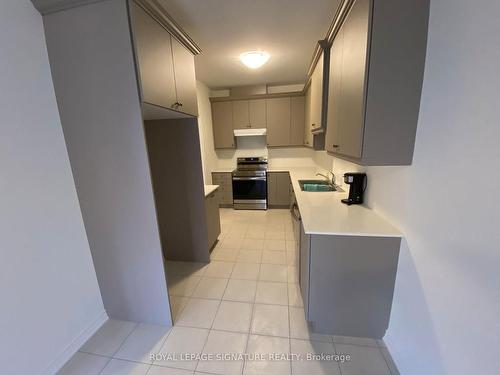
<path id="1" fill-rule="evenodd" d="M 281 171 L 281 170 L 280 170 Z M 299 181 L 322 179 L 316 168 L 290 168 L 293 190 L 307 234 L 342 236 L 402 237 L 387 220 L 364 205 L 348 206 L 340 200 L 348 192 L 309 192 L 300 190 Z M 347 186 L 348 188 L 348 186 Z"/>

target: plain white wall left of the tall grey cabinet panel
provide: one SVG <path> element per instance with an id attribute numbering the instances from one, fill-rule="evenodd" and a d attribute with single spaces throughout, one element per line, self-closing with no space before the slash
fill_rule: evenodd
<path id="1" fill-rule="evenodd" d="M 42 18 L 0 3 L 0 373 L 51 373 L 106 319 Z"/>

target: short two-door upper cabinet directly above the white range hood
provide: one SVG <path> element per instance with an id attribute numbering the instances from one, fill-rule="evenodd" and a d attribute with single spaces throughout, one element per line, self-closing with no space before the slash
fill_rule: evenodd
<path id="1" fill-rule="evenodd" d="M 235 100 L 233 104 L 234 129 L 260 129 L 266 125 L 266 100 Z"/>

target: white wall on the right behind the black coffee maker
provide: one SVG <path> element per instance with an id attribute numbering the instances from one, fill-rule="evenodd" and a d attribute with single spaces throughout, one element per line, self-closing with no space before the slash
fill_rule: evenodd
<path id="1" fill-rule="evenodd" d="M 333 161 L 368 173 L 368 204 L 405 234 L 385 337 L 405 375 L 500 371 L 499 13 L 431 1 L 412 166 Z"/>

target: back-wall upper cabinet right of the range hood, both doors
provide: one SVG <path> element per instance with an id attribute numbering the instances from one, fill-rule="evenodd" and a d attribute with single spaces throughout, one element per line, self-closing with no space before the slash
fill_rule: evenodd
<path id="1" fill-rule="evenodd" d="M 267 99 L 267 145 L 304 144 L 303 96 Z"/>

